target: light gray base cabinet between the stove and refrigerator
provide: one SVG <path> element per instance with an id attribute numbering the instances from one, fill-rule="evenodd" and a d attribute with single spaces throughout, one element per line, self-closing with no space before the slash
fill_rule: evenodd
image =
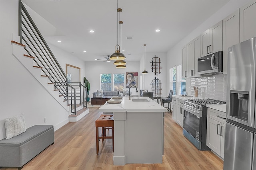
<path id="1" fill-rule="evenodd" d="M 226 113 L 208 108 L 206 145 L 224 158 Z"/>

